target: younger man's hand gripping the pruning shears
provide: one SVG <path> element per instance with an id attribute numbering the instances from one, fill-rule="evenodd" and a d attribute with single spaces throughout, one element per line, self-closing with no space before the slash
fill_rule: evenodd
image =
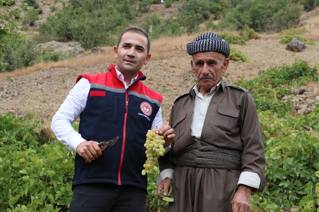
<path id="1" fill-rule="evenodd" d="M 102 151 L 96 141 L 85 141 L 78 145 L 77 153 L 82 156 L 88 163 L 102 155 Z"/>

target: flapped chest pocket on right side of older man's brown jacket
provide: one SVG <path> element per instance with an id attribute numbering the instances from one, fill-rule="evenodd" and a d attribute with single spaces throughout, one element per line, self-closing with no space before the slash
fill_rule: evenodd
<path id="1" fill-rule="evenodd" d="M 233 133 L 238 122 L 239 110 L 219 106 L 214 125 L 226 132 Z"/>

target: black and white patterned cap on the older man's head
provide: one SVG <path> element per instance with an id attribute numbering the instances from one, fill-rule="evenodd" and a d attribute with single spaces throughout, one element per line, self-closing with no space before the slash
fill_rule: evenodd
<path id="1" fill-rule="evenodd" d="M 228 43 L 212 32 L 201 34 L 193 41 L 189 41 L 186 45 L 186 49 L 189 55 L 193 55 L 198 52 L 212 51 L 223 53 L 226 58 L 228 58 L 230 54 Z"/>

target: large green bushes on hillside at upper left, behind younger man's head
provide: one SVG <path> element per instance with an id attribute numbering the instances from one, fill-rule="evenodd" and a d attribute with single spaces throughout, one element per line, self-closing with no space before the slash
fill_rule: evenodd
<path id="1" fill-rule="evenodd" d="M 95 46 L 111 46 L 113 34 L 135 22 L 135 11 L 130 1 L 71 1 L 71 4 L 48 16 L 40 25 L 41 40 L 81 43 L 89 49 Z"/>

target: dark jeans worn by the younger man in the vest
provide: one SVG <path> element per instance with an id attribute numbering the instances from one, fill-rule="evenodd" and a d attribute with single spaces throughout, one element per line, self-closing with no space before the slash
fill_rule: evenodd
<path id="1" fill-rule="evenodd" d="M 85 184 L 73 188 L 70 212 L 145 212 L 146 193 L 134 186 Z"/>

